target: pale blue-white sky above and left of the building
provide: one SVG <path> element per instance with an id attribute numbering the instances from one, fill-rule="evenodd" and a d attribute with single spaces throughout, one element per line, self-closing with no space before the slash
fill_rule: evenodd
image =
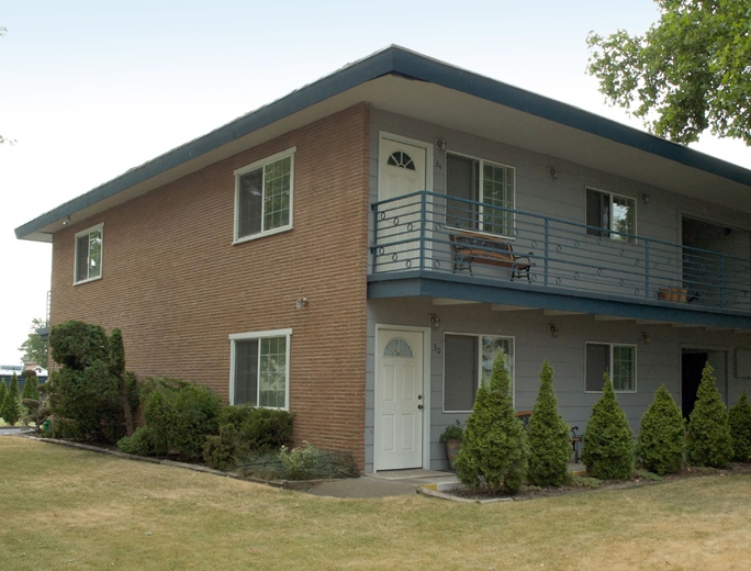
<path id="1" fill-rule="evenodd" d="M 52 246 L 15 227 L 391 44 L 641 127 L 586 75 L 585 40 L 659 19 L 651 0 L 2 4 L 1 365 L 21 365 L 51 283 Z M 751 168 L 740 142 L 693 146 Z"/>

